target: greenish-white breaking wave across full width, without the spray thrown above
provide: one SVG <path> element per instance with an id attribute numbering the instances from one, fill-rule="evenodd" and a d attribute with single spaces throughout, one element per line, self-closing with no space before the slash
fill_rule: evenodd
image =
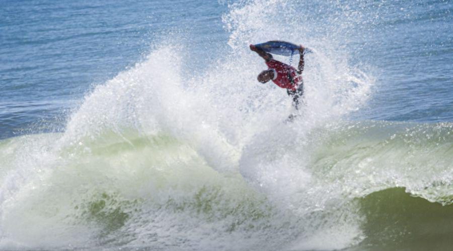
<path id="1" fill-rule="evenodd" d="M 305 145 L 290 148 L 290 156 L 288 148 L 261 148 L 258 154 L 263 145 L 248 147 L 239 172 L 216 171 L 190 143 L 167 134 L 105 131 L 57 152 L 47 144 L 64 135 L 9 139 L 0 145 L 1 166 L 27 165 L 16 166 L 13 176 L 2 170 L 0 244 L 304 250 L 364 248 L 384 240 L 403 245 L 423 236 L 417 226 L 441 218 L 416 215 L 453 213 L 446 180 L 451 127 L 375 121 L 324 126 L 313 129 Z M 33 149 L 37 158 L 17 159 Z M 269 236 L 272 243 L 262 241 Z"/>

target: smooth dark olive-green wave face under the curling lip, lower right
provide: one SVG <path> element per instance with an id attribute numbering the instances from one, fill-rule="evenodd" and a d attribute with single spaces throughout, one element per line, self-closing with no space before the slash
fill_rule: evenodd
<path id="1" fill-rule="evenodd" d="M 367 236 L 351 250 L 449 250 L 453 205 L 442 206 L 390 188 L 359 199 Z"/>

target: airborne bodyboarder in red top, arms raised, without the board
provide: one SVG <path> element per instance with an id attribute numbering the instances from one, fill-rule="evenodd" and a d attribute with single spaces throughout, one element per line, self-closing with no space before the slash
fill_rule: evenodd
<path id="1" fill-rule="evenodd" d="M 300 46 L 297 50 L 300 54 L 299 65 L 297 70 L 287 64 L 274 60 L 270 53 L 250 45 L 250 50 L 258 53 L 265 61 L 269 69 L 262 71 L 258 75 L 258 81 L 267 83 L 272 80 L 276 85 L 286 89 L 286 93 L 292 97 L 292 104 L 295 109 L 298 109 L 299 99 L 304 94 L 304 83 L 300 74 L 304 71 L 304 46 Z M 292 118 L 292 115 L 290 116 Z"/>

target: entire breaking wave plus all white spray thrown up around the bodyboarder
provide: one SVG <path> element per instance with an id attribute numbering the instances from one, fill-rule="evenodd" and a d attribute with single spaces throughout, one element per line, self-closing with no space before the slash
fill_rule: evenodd
<path id="1" fill-rule="evenodd" d="M 375 32 L 383 10 L 225 5 L 228 47 L 209 64 L 193 70 L 186 35 L 161 35 L 60 132 L 0 141 L 0 249 L 451 246 L 453 123 L 356 115 L 380 73 L 342 45 Z M 272 39 L 314 50 L 291 123 L 291 100 L 256 81 L 264 63 L 248 48 Z"/>

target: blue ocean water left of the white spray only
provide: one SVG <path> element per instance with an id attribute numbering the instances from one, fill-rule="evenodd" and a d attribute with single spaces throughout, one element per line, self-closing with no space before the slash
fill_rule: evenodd
<path id="1" fill-rule="evenodd" d="M 0 138 L 61 129 L 67 109 L 168 33 L 186 40 L 190 62 L 207 64 L 228 39 L 225 11 L 201 1 L 2 2 Z"/>

